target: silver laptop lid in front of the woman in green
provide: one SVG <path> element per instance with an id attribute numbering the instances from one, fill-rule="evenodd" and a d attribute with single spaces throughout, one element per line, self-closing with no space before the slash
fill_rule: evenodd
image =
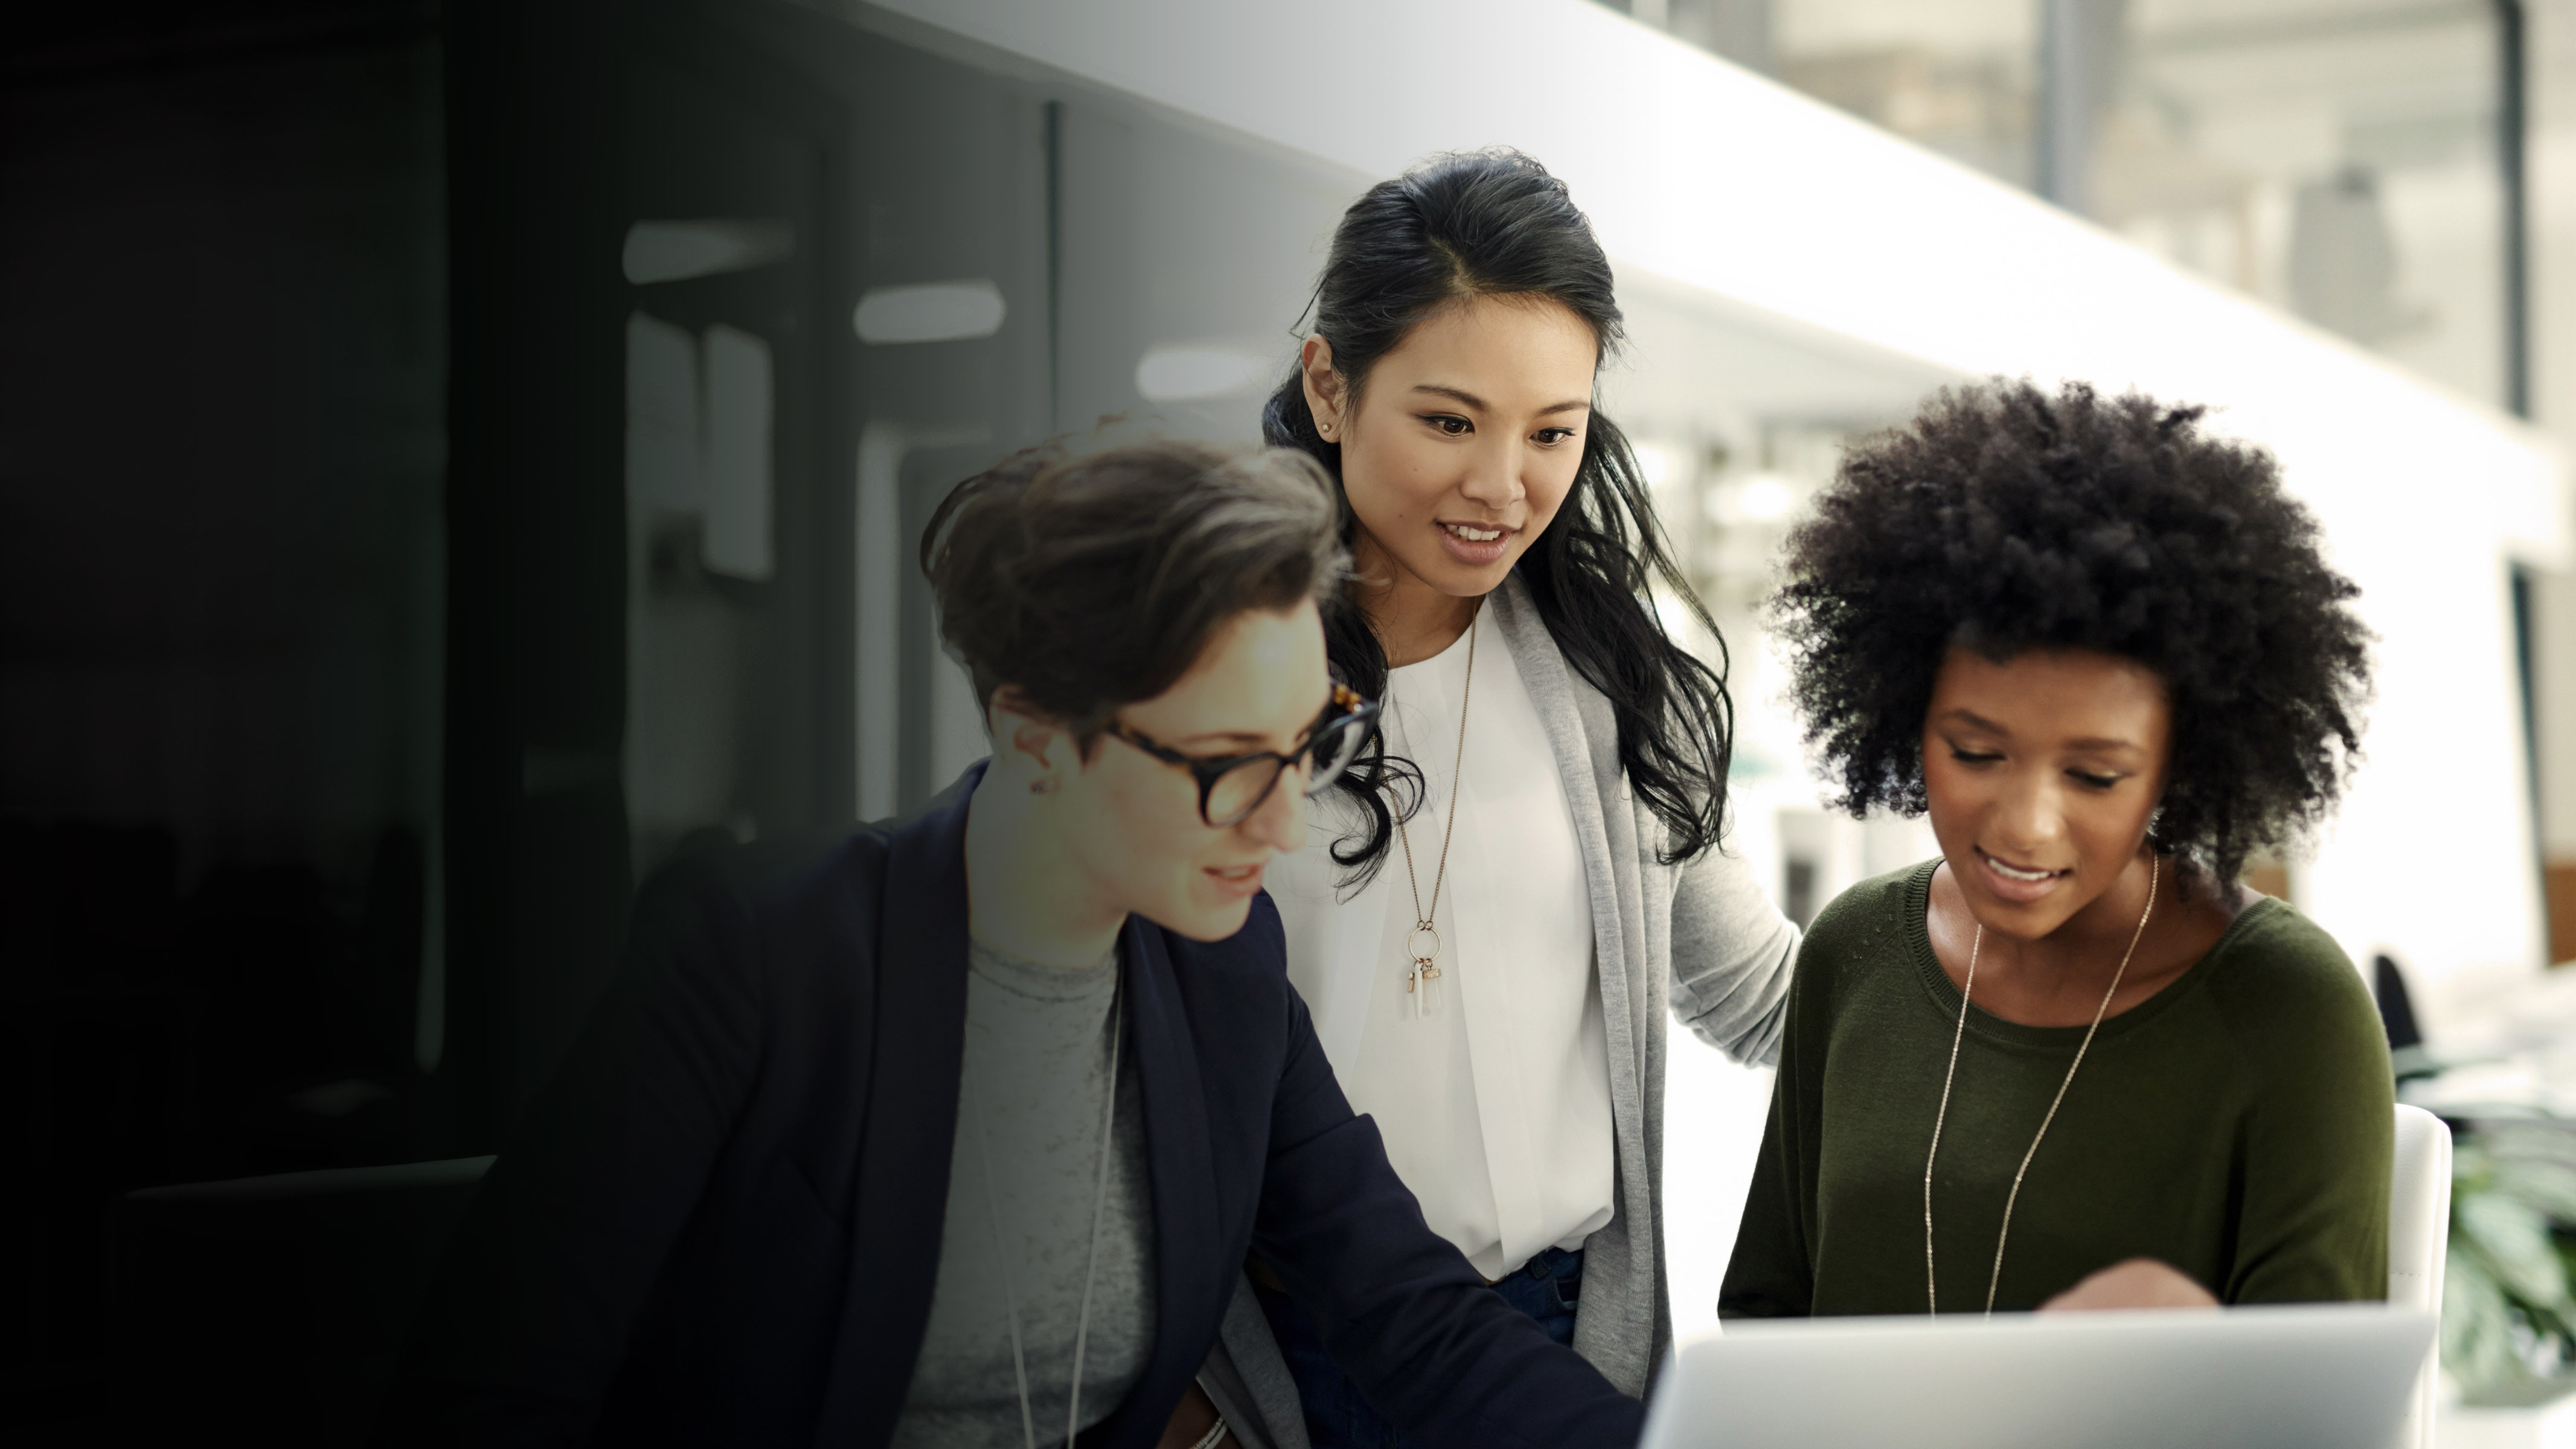
<path id="1" fill-rule="evenodd" d="M 1736 1320 L 1643 1449 L 2388 1449 L 2434 1318 L 2385 1305 Z"/>

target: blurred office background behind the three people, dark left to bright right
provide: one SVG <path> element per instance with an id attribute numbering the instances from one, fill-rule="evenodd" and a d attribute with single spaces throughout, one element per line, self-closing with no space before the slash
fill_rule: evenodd
<path id="1" fill-rule="evenodd" d="M 2282 456 L 2380 633 L 2349 808 L 2249 880 L 2403 983 L 2414 1099 L 2576 1117 L 2576 0 L 5 26 L 13 1441 L 353 1441 L 634 883 L 984 752 L 912 564 L 938 497 L 1103 414 L 1252 440 L 1342 206 L 1440 149 L 1533 152 L 1620 268 L 1607 412 L 1790 916 L 1932 854 L 1819 808 L 1757 615 L 1839 445 L 1958 378 L 2143 386 Z M 1674 1060 L 1685 1328 L 1765 1094 Z M 2470 1390 L 2576 1343 L 2576 1166 L 2506 1138 L 2463 1153 L 2463 1202 L 2501 1184 L 2455 1238 Z"/>

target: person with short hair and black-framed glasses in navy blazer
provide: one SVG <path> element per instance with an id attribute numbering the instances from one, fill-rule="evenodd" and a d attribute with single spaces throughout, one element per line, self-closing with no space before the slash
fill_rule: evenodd
<path id="1" fill-rule="evenodd" d="M 922 564 L 994 754 L 922 816 L 665 872 L 500 1156 L 397 1441 L 1213 1446 L 1257 1246 L 1427 1444 L 1638 1405 L 1432 1235 L 1334 1086 L 1265 867 L 1376 705 L 1296 453 L 1023 453 Z"/>

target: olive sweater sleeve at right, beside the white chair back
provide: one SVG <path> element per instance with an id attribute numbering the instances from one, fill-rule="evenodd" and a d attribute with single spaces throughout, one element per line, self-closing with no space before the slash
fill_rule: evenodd
<path id="1" fill-rule="evenodd" d="M 2352 960 L 2290 909 L 2264 921 L 2262 968 L 2228 991 L 2249 1081 L 2241 1212 L 2226 1302 L 2388 1297 L 2396 1086 L 2378 1009 Z"/>

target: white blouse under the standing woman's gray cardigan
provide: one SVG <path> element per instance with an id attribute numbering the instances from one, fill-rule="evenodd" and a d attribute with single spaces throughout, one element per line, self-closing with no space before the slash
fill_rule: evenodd
<path id="1" fill-rule="evenodd" d="M 1334 839 L 1358 811 L 1327 793 L 1306 849 L 1278 857 L 1270 896 L 1288 929 L 1288 978 L 1314 1011 L 1342 1091 L 1432 1230 L 1489 1279 L 1543 1248 L 1579 1248 L 1613 1210 L 1610 1045 L 1592 950 L 1592 898 L 1574 811 L 1512 649 L 1476 610 L 1468 636 L 1386 685 L 1388 749 L 1425 777 L 1412 870 L 1430 903 L 1440 831 L 1458 800 L 1440 888 L 1440 978 L 1406 991 L 1414 896 L 1404 847 L 1337 901 Z M 1466 692 L 1466 788 L 1453 790 Z"/>

